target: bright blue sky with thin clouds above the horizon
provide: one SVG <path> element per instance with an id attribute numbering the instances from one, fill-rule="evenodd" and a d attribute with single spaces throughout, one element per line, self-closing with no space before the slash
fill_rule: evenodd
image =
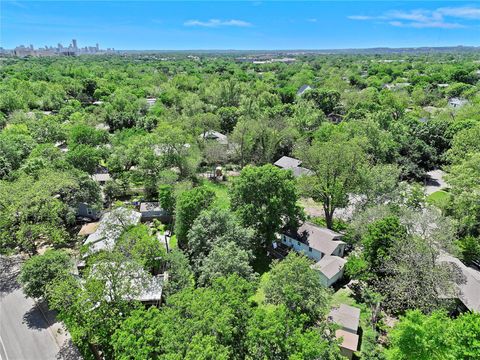
<path id="1" fill-rule="evenodd" d="M 339 49 L 480 46 L 480 1 L 0 0 L 0 46 Z"/>

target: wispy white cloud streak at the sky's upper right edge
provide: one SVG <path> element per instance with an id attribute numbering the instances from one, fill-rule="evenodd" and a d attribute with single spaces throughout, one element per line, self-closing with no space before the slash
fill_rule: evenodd
<path id="1" fill-rule="evenodd" d="M 392 10 L 379 16 L 351 15 L 348 18 L 350 20 L 363 21 L 386 20 L 387 24 L 395 27 L 458 29 L 467 26 L 456 22 L 454 19 L 480 19 L 480 8 L 464 6 L 438 8 L 435 10 Z"/>

